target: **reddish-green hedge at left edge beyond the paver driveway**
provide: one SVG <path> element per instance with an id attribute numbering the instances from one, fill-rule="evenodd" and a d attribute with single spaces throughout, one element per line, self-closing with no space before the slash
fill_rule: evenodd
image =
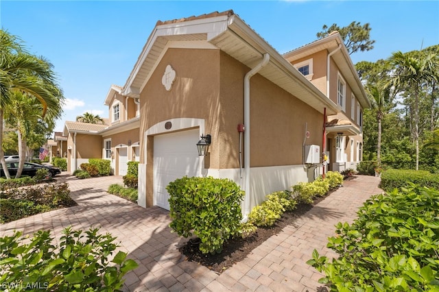
<path id="1" fill-rule="evenodd" d="M 70 197 L 69 184 L 66 183 L 9 188 L 0 192 L 0 200 L 1 223 L 75 204 Z"/>

